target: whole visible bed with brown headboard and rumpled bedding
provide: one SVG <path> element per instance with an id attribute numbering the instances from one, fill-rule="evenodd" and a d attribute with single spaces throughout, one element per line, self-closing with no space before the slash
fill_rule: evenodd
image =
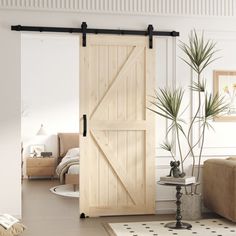
<path id="1" fill-rule="evenodd" d="M 79 133 L 58 133 L 56 173 L 62 184 L 79 186 Z"/>

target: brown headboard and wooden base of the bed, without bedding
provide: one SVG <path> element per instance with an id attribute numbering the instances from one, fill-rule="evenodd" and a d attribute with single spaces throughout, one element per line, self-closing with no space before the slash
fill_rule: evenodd
<path id="1" fill-rule="evenodd" d="M 58 164 L 70 148 L 79 147 L 79 133 L 58 133 Z M 66 174 L 65 184 L 73 184 L 74 191 L 79 186 L 79 174 Z"/>

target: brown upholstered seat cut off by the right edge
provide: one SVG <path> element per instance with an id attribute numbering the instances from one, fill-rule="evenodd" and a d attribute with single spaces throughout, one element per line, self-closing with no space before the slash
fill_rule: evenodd
<path id="1" fill-rule="evenodd" d="M 204 162 L 203 201 L 208 209 L 236 222 L 236 158 Z"/>

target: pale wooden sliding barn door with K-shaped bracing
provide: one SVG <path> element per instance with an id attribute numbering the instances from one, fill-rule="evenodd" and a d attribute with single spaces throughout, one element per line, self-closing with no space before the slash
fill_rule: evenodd
<path id="1" fill-rule="evenodd" d="M 154 213 L 154 56 L 143 36 L 87 35 L 80 48 L 80 213 Z"/>

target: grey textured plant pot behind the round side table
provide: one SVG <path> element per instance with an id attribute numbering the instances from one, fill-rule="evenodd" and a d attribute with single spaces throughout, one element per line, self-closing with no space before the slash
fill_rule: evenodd
<path id="1" fill-rule="evenodd" d="M 183 194 L 181 197 L 182 219 L 198 220 L 201 218 L 201 194 Z"/>

